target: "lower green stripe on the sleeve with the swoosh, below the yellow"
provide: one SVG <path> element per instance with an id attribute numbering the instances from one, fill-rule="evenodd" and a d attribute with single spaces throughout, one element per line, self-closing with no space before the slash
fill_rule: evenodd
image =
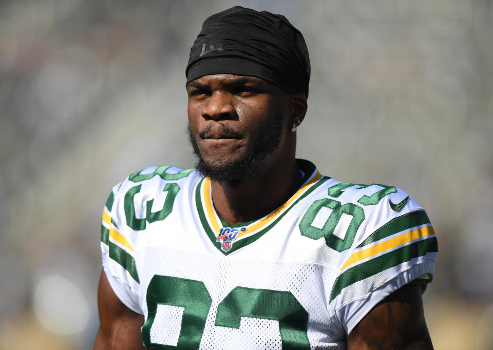
<path id="1" fill-rule="evenodd" d="M 427 252 L 435 251 L 438 251 L 437 239 L 430 237 L 351 267 L 337 278 L 330 293 L 330 301 L 334 300 L 344 288 L 355 282 L 364 280 L 411 259 L 424 256 Z"/>

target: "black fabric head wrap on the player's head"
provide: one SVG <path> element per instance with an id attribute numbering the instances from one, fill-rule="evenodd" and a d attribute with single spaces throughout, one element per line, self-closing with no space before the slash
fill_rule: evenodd
<path id="1" fill-rule="evenodd" d="M 285 16 L 235 6 L 202 25 L 186 67 L 186 82 L 204 75 L 250 75 L 308 97 L 305 39 Z"/>

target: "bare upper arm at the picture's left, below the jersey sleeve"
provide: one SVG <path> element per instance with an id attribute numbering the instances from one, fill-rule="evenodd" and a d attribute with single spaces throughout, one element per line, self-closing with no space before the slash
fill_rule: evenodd
<path id="1" fill-rule="evenodd" d="M 98 309 L 100 327 L 94 341 L 94 350 L 145 349 L 141 331 L 144 316 L 130 310 L 118 299 L 104 271 L 99 280 Z"/>

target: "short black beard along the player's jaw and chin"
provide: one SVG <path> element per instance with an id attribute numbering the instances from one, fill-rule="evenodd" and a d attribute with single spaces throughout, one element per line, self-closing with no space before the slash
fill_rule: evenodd
<path id="1" fill-rule="evenodd" d="M 190 127 L 187 126 L 188 141 L 197 157 L 195 169 L 201 176 L 208 177 L 213 181 L 228 182 L 232 185 L 252 179 L 257 173 L 260 163 L 268 155 L 273 154 L 279 146 L 282 138 L 283 116 L 284 111 L 280 108 L 271 119 L 266 120 L 260 130 L 260 134 L 254 140 L 255 146 L 252 154 L 247 154 L 241 159 L 224 165 L 208 164 L 202 159 L 195 136 L 192 134 Z M 231 132 L 225 124 L 221 125 L 223 131 Z"/>

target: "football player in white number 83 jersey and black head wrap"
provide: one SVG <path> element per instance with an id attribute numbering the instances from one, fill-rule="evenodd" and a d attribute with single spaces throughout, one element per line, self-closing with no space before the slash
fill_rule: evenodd
<path id="1" fill-rule="evenodd" d="M 196 170 L 153 166 L 113 187 L 94 349 L 432 348 L 426 212 L 295 158 L 301 33 L 266 11 L 217 13 L 186 79 Z"/>

